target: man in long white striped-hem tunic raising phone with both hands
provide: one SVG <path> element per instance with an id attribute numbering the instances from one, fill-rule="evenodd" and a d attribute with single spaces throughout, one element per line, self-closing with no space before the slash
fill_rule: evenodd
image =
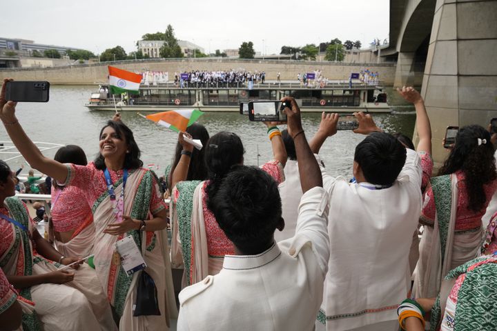
<path id="1" fill-rule="evenodd" d="M 330 259 L 316 330 L 397 330 L 396 308 L 411 285 L 409 250 L 422 207 L 418 154 L 381 132 L 371 115 L 355 113 L 368 134 L 355 148 L 355 183 L 321 168 L 330 196 Z M 320 146 L 329 128 L 311 141 Z M 319 161 L 319 160 L 318 160 Z"/>

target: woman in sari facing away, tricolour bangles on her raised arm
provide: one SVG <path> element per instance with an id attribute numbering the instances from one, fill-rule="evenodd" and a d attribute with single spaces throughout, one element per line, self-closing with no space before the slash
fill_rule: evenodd
<path id="1" fill-rule="evenodd" d="M 279 184 L 284 181 L 286 150 L 280 130 L 271 127 L 271 123 L 266 125 L 269 126 L 274 159 L 261 168 L 271 174 Z M 243 164 L 244 147 L 240 137 L 232 132 L 219 132 L 213 135 L 206 145 L 207 180 L 179 182 L 184 179 L 178 179 L 172 194 L 176 203 L 172 212 L 173 226 L 177 225 L 179 233 L 179 241 L 173 243 L 181 245 L 185 267 L 183 287 L 202 281 L 209 274 L 217 274 L 222 269 L 224 255 L 235 254 L 233 243 L 217 225 L 207 201 L 208 196 L 217 190 L 233 165 Z M 175 172 L 177 171 L 182 171 L 179 165 L 175 169 Z M 177 178 L 175 174 L 173 178 Z"/>

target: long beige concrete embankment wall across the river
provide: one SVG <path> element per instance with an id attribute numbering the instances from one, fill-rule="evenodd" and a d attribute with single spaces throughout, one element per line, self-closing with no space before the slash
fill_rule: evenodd
<path id="1" fill-rule="evenodd" d="M 0 69 L 1 79 L 11 77 L 18 81 L 43 80 L 51 84 L 97 84 L 108 82 L 107 66 L 116 66 L 129 71 L 165 71 L 169 79 L 174 73 L 191 70 L 238 70 L 266 72 L 266 79 L 275 80 L 277 72 L 282 80 L 297 80 L 297 74 L 321 70 L 328 79 L 348 79 L 351 72 L 369 69 L 378 71 L 385 86 L 393 85 L 396 63 L 334 63 L 329 61 L 283 61 L 283 60 L 241 60 L 241 59 L 147 59 L 106 63 L 62 66 L 55 68 L 6 68 Z"/>

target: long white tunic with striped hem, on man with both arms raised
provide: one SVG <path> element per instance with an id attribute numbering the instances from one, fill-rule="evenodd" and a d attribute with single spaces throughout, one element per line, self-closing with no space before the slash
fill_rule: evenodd
<path id="1" fill-rule="evenodd" d="M 410 286 L 409 250 L 422 207 L 418 154 L 407 149 L 398 179 L 382 190 L 335 179 L 324 168 L 322 174 L 331 212 L 321 318 L 338 331 L 394 321 Z"/>

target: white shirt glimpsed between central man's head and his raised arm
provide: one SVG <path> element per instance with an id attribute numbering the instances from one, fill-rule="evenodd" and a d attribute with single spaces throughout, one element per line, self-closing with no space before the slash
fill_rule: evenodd
<path id="1" fill-rule="evenodd" d="M 285 180 L 280 183 L 280 197 L 282 199 L 282 217 L 285 222 L 283 231 L 275 231 L 275 241 L 282 241 L 295 236 L 297 227 L 298 206 L 302 198 L 302 187 L 298 163 L 295 160 L 286 161 L 284 168 Z"/>

